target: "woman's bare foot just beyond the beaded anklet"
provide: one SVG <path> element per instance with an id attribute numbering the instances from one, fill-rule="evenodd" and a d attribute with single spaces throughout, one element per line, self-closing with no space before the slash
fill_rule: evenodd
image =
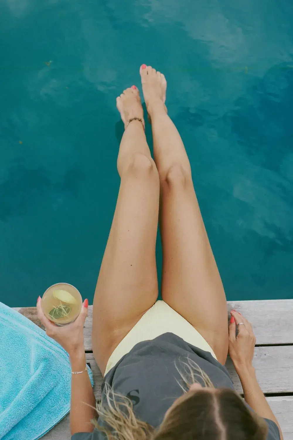
<path id="1" fill-rule="evenodd" d="M 116 99 L 117 109 L 124 122 L 124 128 L 127 127 L 130 119 L 138 117 L 144 122 L 144 110 L 141 106 L 141 98 L 135 85 L 124 90 Z"/>

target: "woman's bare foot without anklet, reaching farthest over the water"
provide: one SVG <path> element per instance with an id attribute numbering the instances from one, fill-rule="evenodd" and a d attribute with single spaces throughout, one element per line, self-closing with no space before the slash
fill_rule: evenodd
<path id="1" fill-rule="evenodd" d="M 142 91 L 148 114 L 156 110 L 167 111 L 165 106 L 167 81 L 163 73 L 157 72 L 152 66 L 143 64 L 139 70 L 141 74 Z"/>

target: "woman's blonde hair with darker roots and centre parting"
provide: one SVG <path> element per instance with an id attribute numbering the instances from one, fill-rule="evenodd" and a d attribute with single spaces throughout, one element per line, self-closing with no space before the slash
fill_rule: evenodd
<path id="1" fill-rule="evenodd" d="M 184 393 L 188 391 L 192 384 L 199 382 L 197 379 L 200 379 L 200 381 L 204 383 L 205 387 L 214 388 L 210 378 L 193 360 L 187 358 L 187 362 L 181 362 L 180 365 L 182 367 L 181 369 L 177 367 L 175 362 L 175 367 L 181 378 L 180 381 L 178 381 L 177 379 L 175 380 L 177 381 L 178 385 L 181 387 Z M 214 393 L 206 393 L 204 391 L 196 392 L 196 395 L 194 396 L 198 396 L 199 393 L 203 394 L 202 397 L 198 399 L 196 405 L 193 405 L 191 408 L 191 401 L 193 401 L 194 403 L 193 397 L 185 400 L 183 402 L 184 408 L 182 403 L 177 405 L 176 408 L 170 411 L 170 413 L 164 419 L 163 423 L 155 429 L 148 423 L 137 419 L 134 414 L 132 401 L 128 397 L 114 392 L 111 386 L 107 382 L 105 382 L 105 401 L 101 402 L 100 407 L 97 406 L 96 408 L 99 418 L 101 419 L 101 422 L 103 422 L 103 425 L 99 425 L 98 420 L 92 420 L 92 422 L 100 432 L 104 433 L 107 436 L 108 440 L 164 440 L 177 438 L 184 439 L 184 431 L 182 431 L 182 429 L 186 429 L 186 431 L 188 430 L 188 432 L 190 433 L 190 425 L 191 423 L 195 423 L 194 414 L 189 414 L 188 416 L 186 414 L 188 413 L 188 411 L 190 413 L 191 410 L 194 410 L 195 413 L 202 413 L 203 406 L 205 405 L 205 400 L 203 399 L 203 397 L 207 397 L 206 405 L 209 406 L 209 410 L 210 407 L 213 407 L 214 410 L 214 415 L 212 417 L 213 422 L 215 422 L 215 426 L 217 425 L 217 428 L 215 428 L 215 432 L 218 437 L 216 437 L 213 433 L 211 437 L 197 437 L 195 435 L 193 436 L 193 438 L 205 438 L 207 440 L 209 440 L 210 438 L 214 440 L 217 440 L 217 438 L 221 440 L 228 440 L 230 438 L 265 440 L 267 435 L 266 424 L 261 418 L 258 418 L 256 414 L 252 414 L 249 411 L 249 409 L 243 403 L 242 398 L 235 391 L 230 389 L 220 389 L 219 396 L 221 396 L 225 400 L 226 404 L 228 403 L 229 407 L 239 407 L 239 411 L 242 413 L 241 420 L 243 419 L 243 413 L 245 413 L 244 415 L 246 415 L 246 425 L 248 421 L 251 432 L 255 434 L 253 436 L 237 437 L 236 433 L 236 436 L 229 437 L 226 432 L 227 429 L 225 429 L 224 424 L 221 420 L 221 402 L 219 401 L 219 399 L 215 397 L 216 395 Z M 229 399 L 231 402 L 229 401 Z M 228 411 L 231 412 L 231 408 L 228 408 Z M 186 416 L 185 420 L 184 415 Z"/>

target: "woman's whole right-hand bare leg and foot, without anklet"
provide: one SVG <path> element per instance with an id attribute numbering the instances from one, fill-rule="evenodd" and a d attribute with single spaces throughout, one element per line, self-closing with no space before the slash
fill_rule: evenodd
<path id="1" fill-rule="evenodd" d="M 203 335 L 217 359 L 225 363 L 226 297 L 199 210 L 189 160 L 166 114 L 166 80 L 150 66 L 140 72 L 160 179 L 162 297 Z"/>

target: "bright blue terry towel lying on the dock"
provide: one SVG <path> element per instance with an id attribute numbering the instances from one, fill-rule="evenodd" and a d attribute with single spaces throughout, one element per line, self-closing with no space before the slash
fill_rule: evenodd
<path id="1" fill-rule="evenodd" d="M 67 352 L 0 302 L 0 439 L 46 434 L 70 410 L 70 384 Z"/>

